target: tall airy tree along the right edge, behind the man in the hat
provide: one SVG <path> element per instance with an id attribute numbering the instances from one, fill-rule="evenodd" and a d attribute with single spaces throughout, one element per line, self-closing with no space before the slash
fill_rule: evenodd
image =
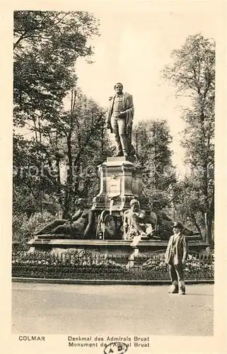
<path id="1" fill-rule="evenodd" d="M 206 217 L 207 237 L 211 243 L 214 221 L 214 40 L 201 34 L 190 35 L 185 45 L 173 51 L 173 59 L 173 64 L 165 67 L 163 74 L 175 84 L 177 94 L 191 97 L 191 107 L 182 112 L 186 123 L 182 147 L 186 151 L 185 163 L 196 176 L 194 193 L 197 193 L 199 207 Z"/>

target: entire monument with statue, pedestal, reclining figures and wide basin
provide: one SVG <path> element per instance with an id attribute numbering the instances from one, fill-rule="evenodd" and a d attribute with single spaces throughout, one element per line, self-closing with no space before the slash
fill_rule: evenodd
<path id="1" fill-rule="evenodd" d="M 93 198 L 91 209 L 80 199 L 78 211 L 71 219 L 55 220 L 40 230 L 28 242 L 32 251 L 77 248 L 132 256 L 139 251 L 166 249 L 173 234 L 173 221 L 161 211 L 158 201 L 153 202 L 151 210 L 148 198 L 142 193 L 143 169 L 136 163 L 132 145 L 133 98 L 123 92 L 121 83 L 114 88 L 107 128 L 115 135 L 117 152 L 98 166 L 100 192 Z M 185 230 L 190 236 L 196 235 L 197 246 L 202 245 L 199 233 Z M 132 251 L 135 249 L 136 252 Z"/>

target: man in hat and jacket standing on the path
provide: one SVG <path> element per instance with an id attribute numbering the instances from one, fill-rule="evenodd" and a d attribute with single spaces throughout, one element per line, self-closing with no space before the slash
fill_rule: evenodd
<path id="1" fill-rule="evenodd" d="M 183 226 L 180 222 L 173 224 L 173 235 L 165 252 L 165 263 L 170 268 L 172 280 L 171 294 L 185 295 L 184 263 L 187 260 L 188 248 L 185 235 L 182 234 Z"/>

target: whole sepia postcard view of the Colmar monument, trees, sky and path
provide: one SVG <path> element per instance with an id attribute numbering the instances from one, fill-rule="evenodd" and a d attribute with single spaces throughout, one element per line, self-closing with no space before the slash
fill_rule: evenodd
<path id="1" fill-rule="evenodd" d="M 207 344 L 223 1 L 56 4 L 11 12 L 13 343 Z"/>

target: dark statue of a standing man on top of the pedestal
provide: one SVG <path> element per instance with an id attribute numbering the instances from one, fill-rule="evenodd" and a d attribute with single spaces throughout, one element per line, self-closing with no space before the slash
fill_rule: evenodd
<path id="1" fill-rule="evenodd" d="M 110 98 L 110 108 L 107 115 L 107 129 L 113 132 L 117 142 L 115 156 L 133 156 L 132 120 L 134 105 L 132 95 L 123 93 L 123 85 L 115 84 L 115 96 Z"/>

